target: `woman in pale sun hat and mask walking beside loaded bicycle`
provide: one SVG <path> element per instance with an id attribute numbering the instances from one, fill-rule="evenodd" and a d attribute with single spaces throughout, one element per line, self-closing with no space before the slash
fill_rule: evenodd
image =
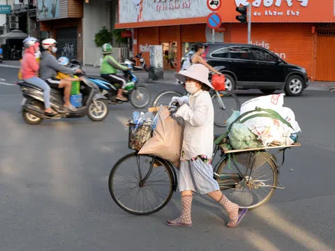
<path id="1" fill-rule="evenodd" d="M 229 201 L 221 192 L 214 180 L 211 155 L 213 153 L 214 108 L 209 95 L 213 86 L 208 80 L 209 69 L 197 63 L 188 70 L 176 74 L 177 79 L 186 83 L 186 91 L 190 98 L 174 97 L 172 101 L 179 102 L 181 107 L 175 114 L 176 118 L 185 121 L 184 142 L 181 151 L 181 166 L 179 170 L 179 190 L 181 192 L 181 216 L 168 220 L 169 226 L 191 227 L 191 205 L 193 192 L 209 195 L 221 204 L 230 221 L 228 227 L 236 227 L 246 215 L 247 209 L 239 213 L 239 206 Z"/>

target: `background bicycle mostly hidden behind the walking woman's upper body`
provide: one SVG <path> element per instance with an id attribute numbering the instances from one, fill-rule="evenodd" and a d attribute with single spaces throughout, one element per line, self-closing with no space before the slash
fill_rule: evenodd
<path id="1" fill-rule="evenodd" d="M 219 114 L 218 112 L 216 112 L 214 116 L 214 125 L 220 128 L 225 128 L 226 121 L 230 118 L 232 109 L 236 109 L 236 111 L 239 111 L 239 109 L 241 108 L 239 98 L 237 98 L 237 96 L 231 91 L 211 90 L 209 94 L 211 95 L 211 100 L 213 101 L 214 112 L 220 111 Z M 179 91 L 164 91 L 155 98 L 154 102 L 152 103 L 152 107 L 159 107 L 160 105 L 163 106 L 168 105 L 172 97 L 174 96 L 178 97 L 190 96 L 190 93 L 185 92 L 183 94 L 180 93 Z M 215 98 L 216 100 L 218 100 L 218 102 L 214 102 Z M 223 100 L 225 101 L 223 102 Z M 228 109 L 227 107 L 231 108 Z"/>

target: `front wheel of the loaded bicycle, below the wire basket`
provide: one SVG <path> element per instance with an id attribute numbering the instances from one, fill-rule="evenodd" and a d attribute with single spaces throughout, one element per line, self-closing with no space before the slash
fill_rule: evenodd
<path id="1" fill-rule="evenodd" d="M 152 161 L 155 162 L 151 174 L 142 183 Z M 161 210 L 172 197 L 173 183 L 172 171 L 165 162 L 137 153 L 121 158 L 108 179 L 112 199 L 124 211 L 135 215 L 150 215 Z"/>

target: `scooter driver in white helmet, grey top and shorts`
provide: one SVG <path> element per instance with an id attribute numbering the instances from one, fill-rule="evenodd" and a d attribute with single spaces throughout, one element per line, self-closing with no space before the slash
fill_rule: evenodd
<path id="1" fill-rule="evenodd" d="M 54 89 L 64 88 L 65 102 L 63 106 L 75 112 L 77 109 L 70 103 L 72 83 L 67 79 L 57 79 L 56 76 L 57 72 L 73 75 L 75 73 L 82 73 L 82 70 L 71 70 L 58 63 L 56 56 L 54 56 L 57 52 L 56 46 L 57 41 L 53 38 L 47 38 L 42 41 L 42 47 L 45 52 L 41 54 L 40 59 L 40 78 L 45 80 Z"/>

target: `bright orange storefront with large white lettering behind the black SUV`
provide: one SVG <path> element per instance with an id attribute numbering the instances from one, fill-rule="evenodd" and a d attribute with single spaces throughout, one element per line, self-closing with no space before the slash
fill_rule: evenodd
<path id="1" fill-rule="evenodd" d="M 164 68 L 177 70 L 188 45 L 211 42 L 211 30 L 206 24 L 206 16 L 211 11 L 206 1 L 131 1 L 137 19 L 131 22 L 130 17 L 123 16 L 132 10 L 129 5 L 122 6 L 120 0 L 116 27 L 134 28 L 134 53 L 143 52 L 147 61 L 149 45 L 163 45 Z M 247 43 L 247 25 L 234 20 L 238 3 L 245 4 L 246 0 L 223 1 L 218 11 L 223 24 L 216 32 L 216 42 Z M 251 3 L 251 43 L 306 68 L 312 79 L 335 81 L 334 0 L 323 0 L 322 6 L 308 0 L 254 0 Z"/>

